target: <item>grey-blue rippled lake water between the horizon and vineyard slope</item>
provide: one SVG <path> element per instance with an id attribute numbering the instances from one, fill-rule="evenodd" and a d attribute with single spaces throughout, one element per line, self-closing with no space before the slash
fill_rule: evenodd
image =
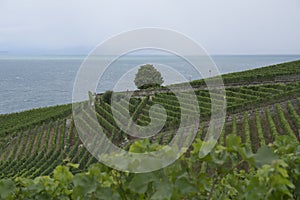
<path id="1" fill-rule="evenodd" d="M 0 114 L 36 107 L 70 103 L 73 83 L 84 57 L 0 57 Z M 213 56 L 221 73 L 243 71 L 275 63 L 298 60 L 300 55 Z M 176 68 L 187 79 L 197 79 L 187 64 L 174 57 L 126 57 L 114 63 L 99 83 L 98 91 L 111 89 L 114 80 L 132 66 L 162 63 Z"/>

